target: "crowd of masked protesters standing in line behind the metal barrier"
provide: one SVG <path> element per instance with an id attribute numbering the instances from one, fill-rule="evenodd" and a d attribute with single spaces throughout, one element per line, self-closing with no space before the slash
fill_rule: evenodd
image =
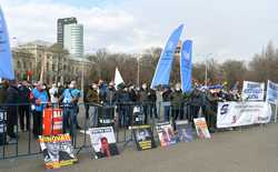
<path id="1" fill-rule="evenodd" d="M 41 135 L 42 114 L 47 107 L 62 108 L 63 132 L 75 135 L 76 130 L 81 129 L 77 117 L 80 113 L 79 102 L 82 101 L 85 117 L 91 120 L 91 127 L 98 127 L 98 111 L 101 107 L 117 107 L 120 128 L 132 125 L 135 124 L 132 119 L 135 107 L 139 107 L 142 124 L 150 123 L 150 120 L 153 122 L 153 119 L 170 121 L 173 124 L 176 120 L 192 121 L 202 112 L 201 115 L 206 118 L 209 130 L 212 132 L 216 129 L 217 102 L 240 99 L 237 89 L 228 91 L 226 87 L 221 87 L 210 90 L 197 83 L 188 93 L 182 93 L 179 83 L 172 88 L 161 85 L 155 90 L 150 89 L 147 83 L 140 88 L 125 83 L 116 87 L 113 82 L 107 83 L 102 80 L 89 84 L 81 92 L 77 88 L 76 81 L 64 85 L 53 83 L 48 87 L 42 82 L 3 80 L 0 84 L 0 110 L 7 111 L 7 138 L 4 136 L 3 142 L 13 143 L 19 139 L 16 132 L 18 125 L 22 132 L 32 130 L 34 138 Z M 158 112 L 158 104 L 159 108 L 162 107 L 163 114 Z"/>

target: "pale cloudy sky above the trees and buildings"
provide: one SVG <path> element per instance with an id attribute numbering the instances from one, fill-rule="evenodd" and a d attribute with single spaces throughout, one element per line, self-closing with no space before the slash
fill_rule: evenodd
<path id="1" fill-rule="evenodd" d="M 10 37 L 54 42 L 57 19 L 77 17 L 85 49 L 139 52 L 163 47 L 180 23 L 195 61 L 250 60 L 271 40 L 278 47 L 278 0 L 0 0 Z"/>

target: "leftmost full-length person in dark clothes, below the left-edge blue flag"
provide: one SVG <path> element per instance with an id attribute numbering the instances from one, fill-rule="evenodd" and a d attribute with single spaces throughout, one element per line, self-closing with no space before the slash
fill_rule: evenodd
<path id="1" fill-rule="evenodd" d="M 6 103 L 8 104 L 8 117 L 7 117 L 7 133 L 10 136 L 10 143 L 14 143 L 17 134 L 14 133 L 14 125 L 18 119 L 18 103 L 19 103 L 19 89 L 17 88 L 17 81 L 10 81 L 10 85 L 7 90 Z"/>

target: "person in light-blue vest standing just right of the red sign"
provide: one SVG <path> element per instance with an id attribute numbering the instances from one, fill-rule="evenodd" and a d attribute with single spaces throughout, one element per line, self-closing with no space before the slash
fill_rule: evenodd
<path id="1" fill-rule="evenodd" d="M 62 93 L 60 100 L 63 103 L 63 118 L 62 118 L 62 129 L 63 133 L 70 132 L 73 138 L 77 127 L 77 108 L 78 100 L 80 98 L 80 91 L 77 89 L 77 82 L 71 81 L 69 88 Z M 70 121 L 70 123 L 69 123 Z"/>

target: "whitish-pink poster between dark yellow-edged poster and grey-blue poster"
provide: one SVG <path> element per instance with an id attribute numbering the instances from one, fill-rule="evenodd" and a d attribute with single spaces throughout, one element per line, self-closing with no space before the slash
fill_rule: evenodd
<path id="1" fill-rule="evenodd" d="M 161 146 L 177 143 L 177 138 L 169 122 L 157 123 L 157 132 Z"/>

